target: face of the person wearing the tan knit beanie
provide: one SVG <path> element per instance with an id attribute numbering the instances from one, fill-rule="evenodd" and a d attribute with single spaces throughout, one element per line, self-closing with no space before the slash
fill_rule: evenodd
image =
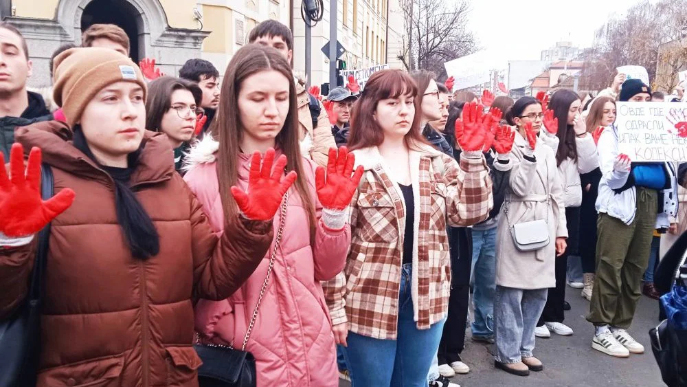
<path id="1" fill-rule="evenodd" d="M 139 148 L 146 126 L 143 96 L 137 83 L 120 81 L 104 87 L 86 105 L 78 123 L 102 164 L 112 165 L 111 160 Z"/>

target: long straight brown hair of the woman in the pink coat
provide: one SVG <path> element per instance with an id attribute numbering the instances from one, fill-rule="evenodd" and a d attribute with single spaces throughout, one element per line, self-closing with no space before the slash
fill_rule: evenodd
<path id="1" fill-rule="evenodd" d="M 260 71 L 267 70 L 278 71 L 289 80 L 289 113 L 286 115 L 284 127 L 275 138 L 275 144 L 289 159 L 286 170 L 294 170 L 298 174 L 294 186 L 308 213 L 311 241 L 313 241 L 315 205 L 308 189 L 300 153 L 296 87 L 293 83 L 291 66 L 272 47 L 251 44 L 239 49 L 234 54 L 232 61 L 229 62 L 222 81 L 222 98 L 220 98 L 217 114 L 211 124 L 211 130 L 214 137 L 219 141 L 217 169 L 224 216 L 225 219 L 234 219 L 237 213 L 236 201 L 232 197 L 230 188 L 236 184 L 238 179 L 237 158 L 241 152 L 240 144 L 243 139 L 243 128 L 238 111 L 238 93 L 245 79 L 258 74 Z"/>

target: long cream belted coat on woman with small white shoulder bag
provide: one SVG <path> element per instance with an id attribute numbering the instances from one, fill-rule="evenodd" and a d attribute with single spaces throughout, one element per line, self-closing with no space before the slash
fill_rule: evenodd
<path id="1" fill-rule="evenodd" d="M 556 286 L 556 237 L 567 238 L 563 185 L 552 149 L 541 139 L 534 150 L 536 162 L 523 159 L 526 140 L 515 134 L 510 153 L 513 170 L 506 202 L 499 214 L 496 244 L 496 285 L 516 289 L 543 289 Z M 506 213 L 508 212 L 508 217 Z M 520 252 L 513 243 L 510 223 L 548 220 L 550 241 L 533 252 Z"/>

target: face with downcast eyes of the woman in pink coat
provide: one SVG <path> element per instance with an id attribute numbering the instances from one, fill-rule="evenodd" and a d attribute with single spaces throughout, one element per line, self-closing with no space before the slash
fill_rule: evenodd
<path id="1" fill-rule="evenodd" d="M 241 82 L 238 115 L 243 134 L 254 142 L 273 142 L 289 114 L 289 79 L 264 70 Z"/>

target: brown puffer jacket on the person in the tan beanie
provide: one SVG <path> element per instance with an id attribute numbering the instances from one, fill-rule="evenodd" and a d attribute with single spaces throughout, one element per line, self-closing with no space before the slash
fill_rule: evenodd
<path id="1" fill-rule="evenodd" d="M 218 238 L 174 172 L 167 138 L 146 133 L 131 186 L 160 252 L 135 259 L 117 224 L 113 180 L 71 145 L 71 134 L 56 121 L 16 131 L 25 149 L 43 150 L 55 192 L 76 191 L 52 222 L 38 387 L 197 386 L 192 295 L 232 295 L 267 253 L 272 223 L 237 217 Z M 0 251 L 0 319 L 25 297 L 35 241 Z"/>

